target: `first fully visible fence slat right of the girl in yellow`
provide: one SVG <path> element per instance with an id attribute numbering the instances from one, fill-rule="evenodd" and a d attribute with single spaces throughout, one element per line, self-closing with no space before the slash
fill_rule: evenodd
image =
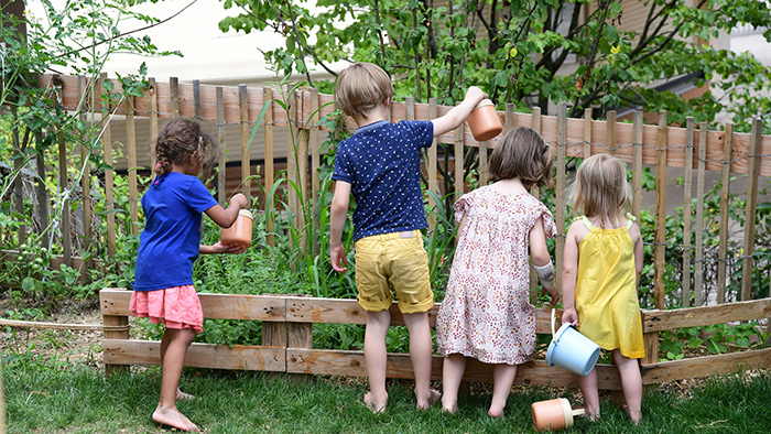
<path id="1" fill-rule="evenodd" d="M 655 235 L 654 235 L 654 285 L 653 300 L 656 308 L 666 308 L 664 293 L 664 272 L 666 271 L 666 258 L 664 243 L 666 242 L 666 111 L 659 115 L 659 134 L 656 137 L 656 166 L 655 166 Z"/>

